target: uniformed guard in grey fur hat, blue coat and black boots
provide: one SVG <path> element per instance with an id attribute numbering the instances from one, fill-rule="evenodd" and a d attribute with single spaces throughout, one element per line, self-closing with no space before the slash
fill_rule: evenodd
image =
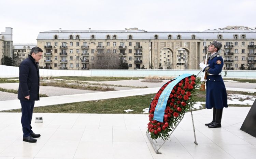
<path id="1" fill-rule="evenodd" d="M 224 62 L 223 58 L 218 53 L 221 47 L 221 42 L 214 40 L 208 47 L 208 51 L 211 53 L 211 56 L 208 58 L 208 65 L 202 62 L 199 65 L 203 71 L 207 73 L 205 107 L 207 109 L 213 108 L 212 122 L 204 124 L 209 128 L 221 127 L 223 108 L 228 107 L 227 92 L 221 77 Z"/>

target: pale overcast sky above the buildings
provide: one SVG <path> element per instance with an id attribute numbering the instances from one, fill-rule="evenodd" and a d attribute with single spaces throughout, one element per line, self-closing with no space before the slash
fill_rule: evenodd
<path id="1" fill-rule="evenodd" d="M 13 43 L 37 43 L 48 30 L 146 31 L 256 27 L 255 0 L 1 0 L 0 32 Z"/>

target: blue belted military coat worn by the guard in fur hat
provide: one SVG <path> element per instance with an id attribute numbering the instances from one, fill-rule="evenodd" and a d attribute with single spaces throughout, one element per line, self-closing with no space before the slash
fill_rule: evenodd
<path id="1" fill-rule="evenodd" d="M 209 66 L 203 70 L 207 73 L 205 107 L 207 109 L 223 109 L 228 107 L 227 92 L 221 76 L 224 65 L 223 58 L 219 53 L 214 53 L 209 57 L 208 64 Z"/>

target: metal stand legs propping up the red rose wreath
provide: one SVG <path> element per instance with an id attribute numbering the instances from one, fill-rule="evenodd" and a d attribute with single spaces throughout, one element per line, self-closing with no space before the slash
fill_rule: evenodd
<path id="1" fill-rule="evenodd" d="M 202 70 L 201 70 L 201 71 L 202 71 Z M 201 71 L 197 74 L 197 76 L 201 73 Z M 196 77 L 197 77 L 197 76 L 196 76 Z M 191 118 L 192 118 L 192 125 L 193 125 L 194 138 L 195 138 L 194 143 L 195 143 L 196 145 L 198 145 L 197 139 L 196 139 L 196 131 L 195 131 L 195 125 L 194 125 L 194 118 L 193 118 L 193 113 L 192 113 L 192 105 L 191 105 L 191 103 L 190 103 L 189 105 L 190 105 Z M 184 115 L 185 115 L 185 113 L 183 114 L 183 116 L 182 116 L 181 120 L 179 121 L 179 123 L 178 123 L 178 124 L 174 127 L 174 129 L 171 131 L 171 133 L 169 134 L 168 138 L 167 138 L 166 140 L 163 139 L 164 142 L 163 142 L 161 145 L 158 144 L 155 139 L 152 139 L 152 138 L 150 137 L 150 133 L 147 133 L 147 132 L 146 132 L 147 138 L 148 138 L 148 140 L 150 140 L 150 143 L 151 143 L 151 145 L 153 146 L 153 148 L 154 148 L 154 150 L 155 150 L 155 152 L 156 152 L 157 154 L 161 154 L 161 152 L 159 152 L 159 149 L 160 149 L 160 148 L 162 147 L 162 145 L 165 144 L 165 142 L 170 138 L 170 136 L 171 136 L 171 134 L 173 133 L 173 131 L 177 128 L 177 126 L 180 124 L 180 122 L 181 122 L 182 119 L 184 118 Z"/>

